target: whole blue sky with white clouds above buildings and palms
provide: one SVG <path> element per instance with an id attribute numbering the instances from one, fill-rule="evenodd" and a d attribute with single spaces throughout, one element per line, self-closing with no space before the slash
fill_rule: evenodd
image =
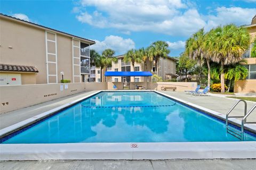
<path id="1" fill-rule="evenodd" d="M 99 53 L 111 48 L 121 55 L 162 40 L 169 45 L 170 56 L 179 56 L 186 40 L 201 28 L 250 24 L 256 0 L 1 0 L 0 12 L 94 40 L 91 48 Z"/>

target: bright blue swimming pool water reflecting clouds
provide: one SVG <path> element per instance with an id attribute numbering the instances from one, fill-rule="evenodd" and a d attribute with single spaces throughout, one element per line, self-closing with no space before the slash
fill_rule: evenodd
<path id="1" fill-rule="evenodd" d="M 100 92 L 3 143 L 194 141 L 239 139 L 223 122 L 156 92 Z"/>

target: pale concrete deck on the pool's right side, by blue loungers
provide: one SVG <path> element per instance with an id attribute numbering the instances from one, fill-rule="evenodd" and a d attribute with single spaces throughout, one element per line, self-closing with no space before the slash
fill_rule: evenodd
<path id="1" fill-rule="evenodd" d="M 182 100 L 186 100 L 190 103 L 211 109 L 212 111 L 219 112 L 221 114 L 227 114 L 229 109 L 236 103 L 238 99 L 231 99 L 227 97 L 222 97 L 220 95 L 212 95 L 212 96 L 193 96 L 187 95 L 185 92 L 181 91 L 160 91 L 167 95 L 180 98 Z M 255 105 L 256 103 L 253 101 L 247 101 L 247 111 Z M 232 116 L 244 114 L 244 104 L 239 103 L 235 109 L 233 110 Z M 256 109 L 254 109 L 253 113 L 247 118 L 247 121 L 256 122 Z"/>

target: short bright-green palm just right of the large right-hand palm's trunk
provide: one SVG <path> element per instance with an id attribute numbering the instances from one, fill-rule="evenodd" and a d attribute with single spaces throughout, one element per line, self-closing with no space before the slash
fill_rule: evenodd
<path id="1" fill-rule="evenodd" d="M 248 75 L 248 70 L 241 64 L 230 65 L 225 72 L 225 79 L 229 80 L 228 90 L 229 92 L 231 81 L 237 81 L 239 79 L 245 79 Z"/>

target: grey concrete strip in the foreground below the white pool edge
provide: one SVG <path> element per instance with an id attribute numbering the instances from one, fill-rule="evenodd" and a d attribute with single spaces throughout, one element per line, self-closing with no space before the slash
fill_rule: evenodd
<path id="1" fill-rule="evenodd" d="M 50 160 L 50 161 L 9 161 L 0 163 L 1 170 L 7 169 L 59 169 L 59 170 L 100 170 L 100 169 L 132 169 L 132 170 L 238 170 L 255 169 L 255 159 L 228 160 Z"/>

